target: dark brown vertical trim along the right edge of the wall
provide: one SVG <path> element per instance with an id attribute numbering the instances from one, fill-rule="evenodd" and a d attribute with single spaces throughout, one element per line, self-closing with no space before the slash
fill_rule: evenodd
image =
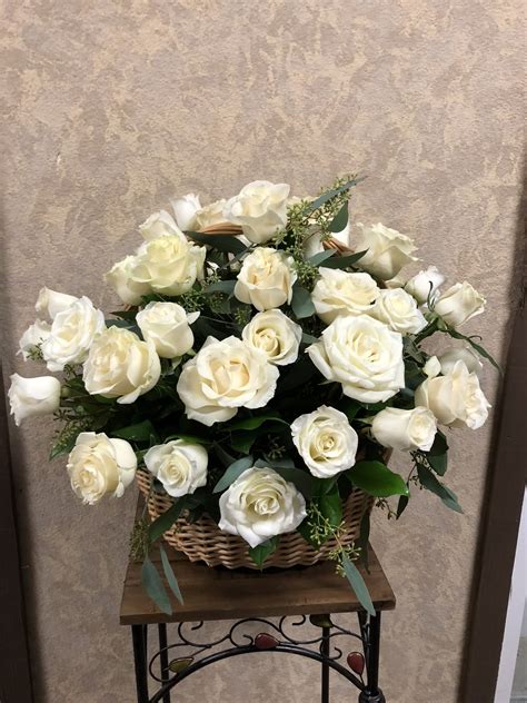
<path id="1" fill-rule="evenodd" d="M 504 365 L 509 357 L 513 330 L 520 330 L 517 321 L 518 309 L 525 306 L 525 286 L 527 284 L 527 155 L 524 157 L 523 191 L 518 201 L 516 219 L 516 256 L 510 277 L 510 300 L 507 330 L 504 337 L 501 354 Z M 524 313 L 525 318 L 525 313 Z M 525 321 L 525 319 L 524 319 Z M 515 338 L 514 346 L 518 346 Z M 520 354 L 525 364 L 525 347 L 519 340 Z M 516 363 L 517 357 L 516 356 Z M 521 512 L 521 498 L 525 487 L 525 468 L 523 462 L 510 462 L 507 465 L 507 481 L 499 481 L 498 474 L 504 469 L 501 452 L 507 444 L 507 454 L 525 456 L 525 433 L 509 426 L 506 416 L 525 417 L 525 408 L 516 384 L 517 368 L 511 368 L 510 376 L 500 390 L 493 425 L 489 471 L 486 476 L 485 498 L 478 526 L 478 543 L 475 551 L 473 581 L 470 585 L 471 608 L 468 613 L 467 633 L 464 651 L 464 675 L 459 682 L 459 701 L 478 701 L 490 703 L 497 682 L 498 667 L 507 616 L 508 594 L 513 573 L 516 539 Z M 514 423 L 513 423 L 514 424 Z M 507 426 L 506 432 L 504 426 Z"/>

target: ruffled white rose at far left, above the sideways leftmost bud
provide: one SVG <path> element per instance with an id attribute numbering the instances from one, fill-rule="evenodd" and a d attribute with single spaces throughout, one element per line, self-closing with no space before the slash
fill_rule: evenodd
<path id="1" fill-rule="evenodd" d="M 57 313 L 41 347 L 49 370 L 61 372 L 67 364 L 82 364 L 93 339 L 103 329 L 103 313 L 86 296 Z"/>

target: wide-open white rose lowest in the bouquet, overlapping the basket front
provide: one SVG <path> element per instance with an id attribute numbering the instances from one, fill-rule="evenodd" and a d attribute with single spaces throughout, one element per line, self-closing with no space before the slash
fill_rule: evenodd
<path id="1" fill-rule="evenodd" d="M 248 468 L 219 499 L 219 528 L 251 547 L 296 529 L 306 518 L 306 501 L 272 468 Z"/>

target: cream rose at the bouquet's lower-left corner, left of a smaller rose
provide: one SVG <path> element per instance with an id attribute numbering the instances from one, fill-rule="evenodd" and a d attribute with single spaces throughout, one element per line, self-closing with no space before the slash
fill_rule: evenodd
<path id="1" fill-rule="evenodd" d="M 88 505 L 108 494 L 120 498 L 136 468 L 136 454 L 128 442 L 95 432 L 80 433 L 67 464 L 74 494 Z"/>

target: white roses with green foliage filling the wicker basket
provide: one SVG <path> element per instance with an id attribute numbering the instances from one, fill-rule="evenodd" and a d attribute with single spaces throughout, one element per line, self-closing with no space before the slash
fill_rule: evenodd
<path id="1" fill-rule="evenodd" d="M 384 225 L 350 234 L 350 189 L 339 179 L 315 198 L 255 181 L 202 207 L 188 195 L 141 226 L 136 254 L 106 275 L 126 304 L 108 318 L 87 297 L 43 288 L 20 352 L 54 376 L 11 376 L 16 424 L 53 413 L 51 458 L 68 455 L 86 504 L 120 497 L 138 471 L 169 509 L 137 523 L 131 546 L 163 610 L 166 587 L 149 557 L 177 518 L 208 515 L 262 566 L 297 531 L 328 554 L 362 604 L 355 560 L 360 534 L 342 537 L 344 506 L 360 489 L 400 517 L 425 488 L 460 511 L 443 483 L 446 430 L 480 427 L 489 404 L 480 357 L 459 328 L 484 311 L 468 283 L 441 291 L 435 267 L 412 277 L 412 240 Z M 434 355 L 434 335 L 463 345 Z M 427 343 L 424 349 L 422 343 Z M 387 466 L 407 452 L 406 477 Z M 395 496 L 397 505 L 390 503 Z M 161 546 L 168 586 L 181 598 Z"/>

